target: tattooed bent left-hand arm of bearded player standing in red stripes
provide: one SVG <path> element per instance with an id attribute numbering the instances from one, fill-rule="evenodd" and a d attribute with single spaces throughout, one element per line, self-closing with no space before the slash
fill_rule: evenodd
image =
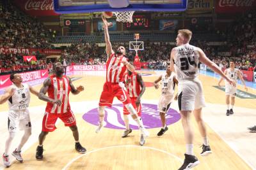
<path id="1" fill-rule="evenodd" d="M 38 98 L 42 101 L 47 101 L 49 103 L 57 104 L 58 106 L 61 106 L 62 103 L 61 103 L 60 99 L 51 99 L 50 97 L 45 95 L 50 86 L 51 86 L 51 78 L 47 78 L 44 81 L 43 87 L 41 87 L 41 89 L 40 89 L 40 92 L 38 94 Z"/>

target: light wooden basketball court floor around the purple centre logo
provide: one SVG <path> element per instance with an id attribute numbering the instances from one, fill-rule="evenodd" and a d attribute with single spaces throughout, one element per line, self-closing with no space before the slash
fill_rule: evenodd
<path id="1" fill-rule="evenodd" d="M 157 75 L 150 72 L 153 76 L 143 76 L 143 80 L 152 82 L 156 80 Z M 150 137 L 144 146 L 139 145 L 139 132 L 134 130 L 128 138 L 121 138 L 123 130 L 104 128 L 99 134 L 95 133 L 96 126 L 89 124 L 83 120 L 83 115 L 90 108 L 97 108 L 100 92 L 104 82 L 103 76 L 83 75 L 79 76 L 79 80 L 74 81 L 74 85 L 83 85 L 84 92 L 74 96 L 70 94 L 70 102 L 72 110 L 77 119 L 79 128 L 79 136 L 81 144 L 87 149 L 87 153 L 81 155 L 74 150 L 74 139 L 72 132 L 64 127 L 62 122 L 56 125 L 58 129 L 51 132 L 44 143 L 44 159 L 35 159 L 35 150 L 38 145 L 38 134 L 42 128 L 42 117 L 46 103 L 40 101 L 32 95 L 30 112 L 31 122 L 33 125 L 33 134 L 29 138 L 29 142 L 24 146 L 24 162 L 20 164 L 13 160 L 12 166 L 8 169 L 178 169 L 184 160 L 185 143 L 184 132 L 181 122 L 176 122 L 169 126 L 169 130 L 161 136 L 157 137 L 159 128 L 148 129 Z M 193 119 L 193 128 L 195 129 L 195 155 L 200 160 L 200 164 L 194 169 L 255 169 L 256 165 L 252 166 L 250 157 L 256 157 L 256 134 L 243 132 L 237 133 L 238 130 L 229 129 L 228 127 L 236 128 L 237 122 L 241 117 L 245 119 L 244 127 L 253 125 L 256 116 L 255 99 L 239 99 L 236 98 L 237 115 L 225 117 L 225 93 L 218 90 L 213 85 L 217 85 L 218 80 L 200 76 L 200 80 L 204 85 L 205 100 L 209 106 L 204 108 L 204 117 L 207 119 L 207 131 L 209 141 L 212 148 L 212 154 L 208 157 L 200 157 L 202 148 L 202 138 L 197 129 L 195 120 Z M 35 89 L 39 90 L 41 85 L 36 85 Z M 239 89 L 241 87 L 239 86 Z M 243 90 L 243 89 L 241 89 Z M 249 88 L 249 92 L 256 94 L 255 90 Z M 160 90 L 154 87 L 147 87 L 143 95 L 142 103 L 158 103 Z M 115 101 L 118 103 L 118 101 Z M 178 110 L 177 102 L 174 102 L 171 107 Z M 236 108 L 235 108 L 236 109 Z M 1 105 L 0 113 L 0 132 L 1 146 L 0 152 L 3 154 L 4 143 L 8 133 L 6 132 L 7 122 L 7 104 Z M 254 113 L 253 113 L 254 112 Z M 246 119 L 248 117 L 248 119 Z M 254 118 L 254 119 L 253 119 Z M 233 121 L 236 120 L 237 122 Z M 212 128 L 216 125 L 216 128 Z M 227 127 L 221 129 L 218 127 Z M 239 129 L 239 127 L 237 127 Z M 223 132 L 223 134 L 221 134 Z M 13 148 L 19 143 L 22 132 L 17 134 L 13 141 Z M 3 138 L 2 138 L 3 136 Z M 232 137 L 232 139 L 230 139 Z M 229 140 L 230 139 L 230 140 Z M 243 139 L 236 144 L 236 141 Z M 230 145 L 234 141 L 234 145 Z M 237 146 L 238 145 L 238 146 Z M 246 148 L 250 146 L 251 148 Z M 237 152 L 236 147 L 241 148 L 241 152 Z M 244 149 L 243 149 L 244 147 Z M 235 148 L 235 149 L 234 149 Z M 246 150 L 246 153 L 243 153 Z M 250 155 L 249 159 L 244 159 L 240 153 Z M 242 154 L 242 155 L 243 155 Z M 243 157 L 243 159 L 242 159 Z M 252 160 L 253 161 L 253 160 Z M 3 169 L 3 166 L 0 169 Z"/>

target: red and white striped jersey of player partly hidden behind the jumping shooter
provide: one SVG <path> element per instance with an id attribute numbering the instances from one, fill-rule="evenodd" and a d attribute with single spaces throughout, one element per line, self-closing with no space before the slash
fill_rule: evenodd
<path id="1" fill-rule="evenodd" d="M 125 83 L 125 87 L 129 96 L 138 97 L 140 95 L 141 87 L 139 81 L 137 80 L 137 73 L 132 73 L 131 75 L 126 73 L 124 75 L 124 81 L 127 82 L 127 80 L 129 80 L 129 83 Z"/>

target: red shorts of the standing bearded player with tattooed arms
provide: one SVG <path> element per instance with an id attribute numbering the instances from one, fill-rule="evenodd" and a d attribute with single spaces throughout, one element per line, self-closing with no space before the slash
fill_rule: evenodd
<path id="1" fill-rule="evenodd" d="M 65 126 L 73 126 L 76 125 L 76 118 L 72 111 L 68 111 L 67 113 L 48 113 L 45 112 L 43 119 L 43 132 L 52 132 L 56 129 L 55 123 L 57 119 L 60 118 L 62 122 L 64 122 Z"/>

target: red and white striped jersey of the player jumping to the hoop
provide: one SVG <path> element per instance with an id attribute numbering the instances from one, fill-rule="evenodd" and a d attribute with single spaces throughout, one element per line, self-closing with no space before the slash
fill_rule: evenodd
<path id="1" fill-rule="evenodd" d="M 106 79 L 109 83 L 119 83 L 124 80 L 124 73 L 126 66 L 122 61 L 127 60 L 125 57 L 116 57 L 115 53 L 112 53 L 107 62 Z"/>

